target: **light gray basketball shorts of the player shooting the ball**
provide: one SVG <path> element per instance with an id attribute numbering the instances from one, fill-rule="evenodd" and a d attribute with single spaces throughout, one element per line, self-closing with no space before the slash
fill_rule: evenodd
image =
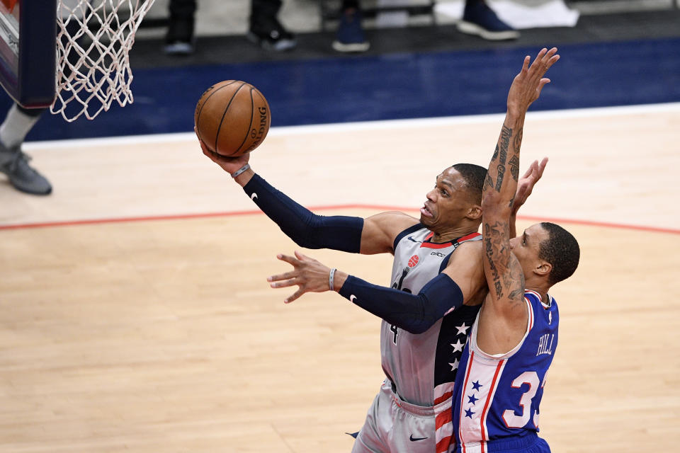
<path id="1" fill-rule="evenodd" d="M 435 453 L 436 415 L 450 410 L 450 399 L 435 407 L 407 403 L 385 379 L 368 409 L 352 453 Z"/>

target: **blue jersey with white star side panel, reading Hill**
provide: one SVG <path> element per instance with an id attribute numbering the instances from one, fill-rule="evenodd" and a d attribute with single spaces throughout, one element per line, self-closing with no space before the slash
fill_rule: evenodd
<path id="1" fill-rule="evenodd" d="M 456 451 L 487 452 L 489 441 L 538 432 L 540 399 L 557 348 L 555 299 L 526 290 L 527 331 L 513 350 L 489 355 L 477 346 L 475 321 L 453 390 Z"/>

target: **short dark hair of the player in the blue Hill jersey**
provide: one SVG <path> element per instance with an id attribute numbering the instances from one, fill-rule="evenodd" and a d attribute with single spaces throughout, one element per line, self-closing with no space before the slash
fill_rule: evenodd
<path id="1" fill-rule="evenodd" d="M 579 265 L 581 251 L 576 238 L 562 226 L 550 222 L 541 222 L 540 226 L 548 231 L 548 239 L 540 243 L 538 258 L 553 266 L 548 276 L 552 286 L 572 276 Z"/>

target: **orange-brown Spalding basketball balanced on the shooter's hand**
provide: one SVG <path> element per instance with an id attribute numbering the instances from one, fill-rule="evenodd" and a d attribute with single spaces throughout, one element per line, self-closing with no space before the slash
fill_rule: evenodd
<path id="1" fill-rule="evenodd" d="M 196 133 L 210 151 L 236 157 L 253 151 L 269 132 L 269 104 L 257 88 L 225 80 L 205 90 L 193 115 Z"/>

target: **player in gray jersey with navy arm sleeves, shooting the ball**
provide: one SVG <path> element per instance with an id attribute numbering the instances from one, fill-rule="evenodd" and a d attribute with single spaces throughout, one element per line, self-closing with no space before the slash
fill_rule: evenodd
<path id="1" fill-rule="evenodd" d="M 402 212 L 383 212 L 366 219 L 324 217 L 290 200 L 254 173 L 249 154 L 227 158 L 201 146 L 299 246 L 395 256 L 392 287 L 336 273 L 300 253 L 296 258 L 280 255 L 297 267 L 270 280 L 273 287 L 300 286 L 285 302 L 293 302 L 305 292 L 332 288 L 383 319 L 381 352 L 386 379 L 358 433 L 354 452 L 447 451 L 453 433 L 450 407 L 455 372 L 487 291 L 480 283 L 484 282 L 478 265 L 480 248 L 468 246 L 480 239 L 477 230 L 486 168 L 472 164 L 446 168 L 427 193 L 419 219 Z M 525 175 L 513 212 L 538 178 L 538 171 Z M 300 266 L 306 267 L 305 273 L 298 272 Z M 454 282 L 457 272 L 479 275 Z M 469 295 L 466 300 L 463 294 Z"/>

